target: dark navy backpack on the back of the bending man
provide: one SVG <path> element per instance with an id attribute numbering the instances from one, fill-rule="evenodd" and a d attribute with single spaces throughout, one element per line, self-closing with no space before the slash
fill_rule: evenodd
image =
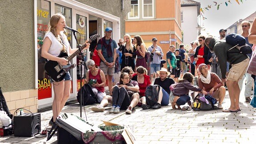
<path id="1" fill-rule="evenodd" d="M 226 36 L 226 42 L 231 44 L 233 47 L 228 49 L 230 51 L 233 48 L 239 49 L 240 53 L 242 54 L 251 54 L 252 48 L 248 44 L 246 44 L 246 40 L 244 36 L 241 36 L 236 33 L 232 33 Z"/>

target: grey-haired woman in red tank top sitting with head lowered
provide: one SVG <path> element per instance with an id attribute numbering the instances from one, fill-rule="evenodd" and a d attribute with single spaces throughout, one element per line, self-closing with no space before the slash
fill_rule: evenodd
<path id="1" fill-rule="evenodd" d="M 89 69 L 87 72 L 85 83 L 88 84 L 89 80 L 96 79 L 96 84 L 92 84 L 92 91 L 94 92 L 95 96 L 100 103 L 103 100 L 103 97 L 106 96 L 104 85 L 106 83 L 104 72 L 95 67 L 95 62 L 93 60 L 87 60 L 86 66 Z"/>

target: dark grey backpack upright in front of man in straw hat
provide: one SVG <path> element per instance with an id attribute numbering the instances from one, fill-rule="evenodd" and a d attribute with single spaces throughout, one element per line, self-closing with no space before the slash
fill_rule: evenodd
<path id="1" fill-rule="evenodd" d="M 156 87 L 158 87 L 158 91 L 156 90 Z M 159 85 L 149 84 L 147 86 L 146 91 L 145 91 L 147 105 L 150 105 L 152 107 L 157 103 L 159 92 L 160 92 Z"/>

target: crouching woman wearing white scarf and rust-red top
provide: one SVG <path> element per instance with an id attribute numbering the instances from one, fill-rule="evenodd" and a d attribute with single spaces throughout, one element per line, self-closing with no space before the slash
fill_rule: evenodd
<path id="1" fill-rule="evenodd" d="M 199 88 L 208 92 L 212 97 L 219 100 L 218 108 L 223 109 L 222 102 L 225 97 L 226 89 L 223 86 L 220 77 L 216 73 L 209 72 L 206 64 L 200 64 L 198 67 L 201 72 L 201 76 L 198 80 Z"/>

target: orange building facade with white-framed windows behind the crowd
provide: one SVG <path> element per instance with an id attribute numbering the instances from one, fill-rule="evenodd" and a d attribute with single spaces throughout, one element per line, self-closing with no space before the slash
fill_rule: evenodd
<path id="1" fill-rule="evenodd" d="M 156 37 L 166 60 L 169 46 L 174 44 L 178 48 L 182 43 L 180 0 L 131 0 L 125 32 L 131 36 L 140 35 L 147 48 Z"/>

